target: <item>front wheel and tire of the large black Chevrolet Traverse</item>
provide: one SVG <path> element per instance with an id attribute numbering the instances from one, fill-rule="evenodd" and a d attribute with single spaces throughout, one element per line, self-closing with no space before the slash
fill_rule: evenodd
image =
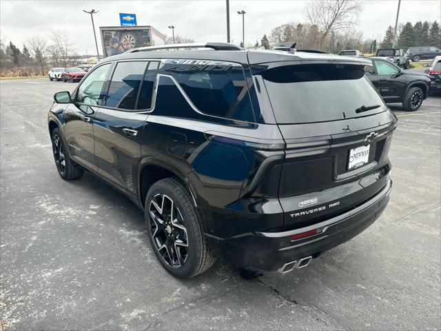
<path id="1" fill-rule="evenodd" d="M 76 165 L 69 157 L 66 150 L 63 135 L 59 128 L 52 131 L 52 152 L 54 154 L 55 165 L 62 179 L 71 181 L 83 176 L 84 170 Z"/>

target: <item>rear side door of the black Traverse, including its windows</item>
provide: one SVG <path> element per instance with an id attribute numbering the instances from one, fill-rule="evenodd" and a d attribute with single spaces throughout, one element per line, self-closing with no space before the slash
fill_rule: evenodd
<path id="1" fill-rule="evenodd" d="M 94 117 L 98 173 L 127 194 L 137 196 L 141 132 L 150 112 L 158 61 L 116 63 L 103 107 Z"/>

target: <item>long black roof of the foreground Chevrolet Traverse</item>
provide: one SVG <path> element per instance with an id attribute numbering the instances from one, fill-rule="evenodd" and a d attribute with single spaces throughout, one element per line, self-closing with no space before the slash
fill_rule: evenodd
<path id="1" fill-rule="evenodd" d="M 356 64 L 369 63 L 362 57 L 342 57 L 334 54 L 316 54 L 311 52 L 283 52 L 279 50 L 149 50 L 126 52 L 100 61 L 121 61 L 127 59 L 196 59 L 229 61 L 241 64 L 258 64 L 280 61 L 325 61 L 351 62 Z"/>

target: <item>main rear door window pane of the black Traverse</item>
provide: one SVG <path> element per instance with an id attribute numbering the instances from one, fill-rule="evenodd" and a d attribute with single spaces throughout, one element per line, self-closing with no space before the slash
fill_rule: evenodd
<path id="1" fill-rule="evenodd" d="M 134 110 L 147 61 L 119 62 L 110 81 L 105 106 Z"/>

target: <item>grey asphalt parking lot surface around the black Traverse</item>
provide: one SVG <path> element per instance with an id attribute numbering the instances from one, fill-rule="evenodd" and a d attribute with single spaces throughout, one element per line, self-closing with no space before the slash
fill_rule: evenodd
<path id="1" fill-rule="evenodd" d="M 57 174 L 46 114 L 75 86 L 0 81 L 3 328 L 440 330 L 441 97 L 391 107 L 391 201 L 360 236 L 289 274 L 216 263 L 182 281 L 156 261 L 132 202 L 90 174 Z"/>

